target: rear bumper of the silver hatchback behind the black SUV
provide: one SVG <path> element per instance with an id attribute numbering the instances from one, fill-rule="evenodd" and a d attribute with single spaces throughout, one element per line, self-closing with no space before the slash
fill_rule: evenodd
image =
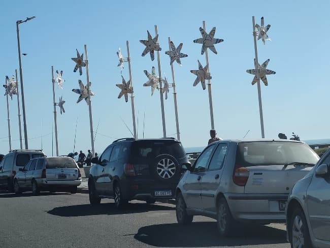
<path id="1" fill-rule="evenodd" d="M 287 194 L 224 194 L 238 221 L 285 222 Z M 281 205 L 281 206 L 280 206 Z"/>

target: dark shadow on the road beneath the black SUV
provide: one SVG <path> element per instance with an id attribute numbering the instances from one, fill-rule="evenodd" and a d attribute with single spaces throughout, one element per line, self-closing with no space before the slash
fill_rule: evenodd
<path id="1" fill-rule="evenodd" d="M 158 210 L 175 210 L 175 207 L 162 206 L 157 204 L 146 203 L 129 203 L 123 210 L 117 210 L 115 203 L 101 203 L 100 205 L 91 206 L 90 204 L 73 205 L 55 207 L 49 210 L 48 213 L 63 217 L 73 216 L 87 216 L 87 215 L 99 215 L 99 214 L 126 214 L 126 213 L 139 213 Z"/>

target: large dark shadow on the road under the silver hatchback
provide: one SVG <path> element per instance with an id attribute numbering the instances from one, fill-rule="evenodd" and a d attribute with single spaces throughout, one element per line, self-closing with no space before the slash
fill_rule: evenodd
<path id="1" fill-rule="evenodd" d="M 236 229 L 232 237 L 221 238 L 216 222 L 193 222 L 188 226 L 161 224 L 139 229 L 135 239 L 158 247 L 209 247 L 286 243 L 285 231 L 267 226 Z"/>

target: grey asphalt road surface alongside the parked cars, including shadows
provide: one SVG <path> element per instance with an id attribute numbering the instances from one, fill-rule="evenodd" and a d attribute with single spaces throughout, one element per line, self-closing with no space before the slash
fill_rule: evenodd
<path id="1" fill-rule="evenodd" d="M 175 205 L 113 200 L 89 205 L 87 194 L 32 196 L 0 191 L 0 247 L 289 247 L 285 226 L 246 226 L 220 238 L 214 220 L 195 216 L 179 226 Z"/>

